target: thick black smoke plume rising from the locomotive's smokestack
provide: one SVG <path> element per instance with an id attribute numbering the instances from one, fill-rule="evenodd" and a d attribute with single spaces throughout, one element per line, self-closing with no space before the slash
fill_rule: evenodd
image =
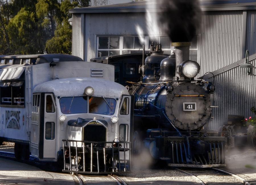
<path id="1" fill-rule="evenodd" d="M 158 7 L 163 12 L 159 23 L 168 24 L 172 42 L 189 42 L 195 35 L 196 16 L 200 13 L 197 0 L 162 0 Z"/>

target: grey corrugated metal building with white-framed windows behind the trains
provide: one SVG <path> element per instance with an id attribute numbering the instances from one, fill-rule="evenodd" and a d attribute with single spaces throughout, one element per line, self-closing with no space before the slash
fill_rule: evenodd
<path id="1" fill-rule="evenodd" d="M 171 53 L 167 25 L 156 26 L 158 1 L 144 1 L 101 7 L 75 8 L 73 14 L 72 54 L 89 61 L 95 57 L 117 55 L 139 50 L 144 44 L 149 50 L 151 41 L 162 43 L 165 53 Z M 210 3 L 209 3 L 210 2 Z M 246 49 L 256 66 L 256 2 L 201 2 L 203 13 L 197 17 L 195 38 L 190 58 L 201 66 L 199 76 L 212 72 L 216 93 L 210 127 L 218 128 L 228 115 L 253 116 L 250 108 L 256 105 L 255 78 L 238 66 L 243 63 Z M 146 13 L 149 12 L 149 13 Z M 148 21 L 150 20 L 150 21 Z M 242 60 L 241 60 L 242 59 Z M 205 79 L 211 81 L 211 74 Z"/>

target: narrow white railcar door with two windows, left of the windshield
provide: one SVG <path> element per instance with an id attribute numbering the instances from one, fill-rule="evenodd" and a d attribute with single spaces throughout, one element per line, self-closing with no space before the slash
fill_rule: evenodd
<path id="1" fill-rule="evenodd" d="M 42 111 L 41 111 L 42 112 Z M 44 94 L 44 121 L 40 128 L 40 137 L 44 136 L 43 158 L 56 158 L 56 122 L 57 110 L 52 93 Z"/>

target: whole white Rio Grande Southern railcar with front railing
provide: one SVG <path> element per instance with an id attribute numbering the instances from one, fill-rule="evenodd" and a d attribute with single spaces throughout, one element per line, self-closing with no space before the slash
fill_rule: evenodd
<path id="1" fill-rule="evenodd" d="M 66 172 L 130 170 L 131 95 L 114 66 L 62 54 L 0 56 L 0 140 Z M 33 64 L 33 65 L 32 65 Z"/>

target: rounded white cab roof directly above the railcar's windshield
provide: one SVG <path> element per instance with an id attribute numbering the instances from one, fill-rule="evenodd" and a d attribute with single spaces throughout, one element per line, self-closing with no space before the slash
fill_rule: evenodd
<path id="1" fill-rule="evenodd" d="M 121 97 L 129 95 L 127 89 L 112 81 L 99 78 L 64 78 L 37 85 L 33 92 L 53 92 L 55 96 L 81 96 L 88 86 L 94 88 L 94 95 L 104 97 Z"/>

